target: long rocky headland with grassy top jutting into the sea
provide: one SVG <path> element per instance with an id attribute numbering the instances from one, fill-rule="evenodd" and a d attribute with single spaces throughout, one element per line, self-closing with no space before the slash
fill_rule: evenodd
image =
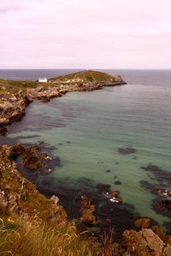
<path id="1" fill-rule="evenodd" d="M 85 70 L 66 76 L 50 78 L 48 82 L 0 80 L 0 133 L 5 125 L 20 120 L 27 105 L 37 99 L 43 102 L 73 91 L 91 91 L 103 86 L 125 84 L 121 76 Z"/>

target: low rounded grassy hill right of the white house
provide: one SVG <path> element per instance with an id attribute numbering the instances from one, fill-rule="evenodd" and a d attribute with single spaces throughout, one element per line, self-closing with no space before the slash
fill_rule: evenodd
<path id="1" fill-rule="evenodd" d="M 83 70 L 64 76 L 50 78 L 49 82 L 109 82 L 113 79 L 115 79 L 115 76 L 110 76 L 103 72 Z"/>

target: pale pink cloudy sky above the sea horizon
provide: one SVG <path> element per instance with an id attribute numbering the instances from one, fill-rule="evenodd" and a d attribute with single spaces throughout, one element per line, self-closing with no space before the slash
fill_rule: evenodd
<path id="1" fill-rule="evenodd" d="M 171 0 L 0 0 L 0 69 L 171 69 Z"/>

